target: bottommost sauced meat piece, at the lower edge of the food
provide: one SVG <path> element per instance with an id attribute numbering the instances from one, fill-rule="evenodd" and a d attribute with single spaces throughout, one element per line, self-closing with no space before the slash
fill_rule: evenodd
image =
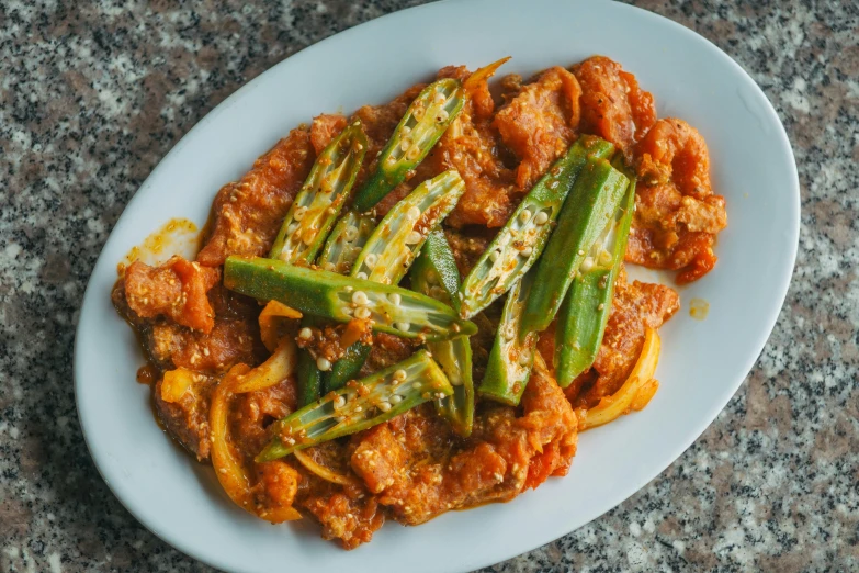
<path id="1" fill-rule="evenodd" d="M 363 491 L 325 491 L 298 502 L 323 525 L 323 539 L 339 539 L 344 549 L 366 543 L 385 523 L 378 502 Z"/>

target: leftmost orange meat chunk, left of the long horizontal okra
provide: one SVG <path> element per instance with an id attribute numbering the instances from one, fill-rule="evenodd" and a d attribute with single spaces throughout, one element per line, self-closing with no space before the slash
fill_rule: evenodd
<path id="1" fill-rule="evenodd" d="M 142 318 L 163 315 L 204 333 L 215 326 L 206 293 L 221 280 L 219 269 L 173 256 L 159 267 L 134 261 L 124 280 L 128 306 Z"/>

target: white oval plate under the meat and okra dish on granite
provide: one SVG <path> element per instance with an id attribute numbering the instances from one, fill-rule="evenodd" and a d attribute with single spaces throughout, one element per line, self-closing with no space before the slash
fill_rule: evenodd
<path id="1" fill-rule="evenodd" d="M 705 136 L 728 228 L 719 263 L 681 289 L 663 328 L 655 398 L 643 412 L 581 436 L 573 468 L 509 504 L 454 512 L 416 528 L 394 523 L 347 552 L 314 525 L 270 526 L 238 509 L 210 468 L 159 429 L 143 358 L 111 306 L 116 263 L 169 217 L 206 220 L 215 192 L 287 131 L 321 112 L 384 102 L 448 64 L 472 69 L 511 55 L 524 76 L 604 54 L 634 72 L 659 116 Z M 323 72 L 323 70 L 325 70 Z M 689 30 L 612 2 L 471 0 L 381 18 L 326 40 L 261 75 L 210 113 L 140 187 L 90 279 L 78 324 L 78 412 L 95 463 L 156 535 L 214 566 L 241 572 L 466 571 L 547 543 L 653 480 L 715 418 L 743 382 L 784 301 L 799 237 L 799 181 L 773 109 L 731 58 Z M 651 279 L 656 274 L 648 273 Z M 694 321 L 688 303 L 710 303 Z"/>

